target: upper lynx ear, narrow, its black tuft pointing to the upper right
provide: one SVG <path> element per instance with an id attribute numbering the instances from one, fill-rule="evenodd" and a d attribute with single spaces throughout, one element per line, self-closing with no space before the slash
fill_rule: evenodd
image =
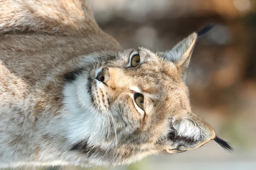
<path id="1" fill-rule="evenodd" d="M 195 42 L 198 40 L 198 37 L 201 37 L 203 34 L 207 33 L 210 29 L 213 28 L 213 24 L 210 24 L 204 27 L 198 33 L 192 33 L 184 40 L 180 41 L 174 48 L 170 51 L 158 53 L 161 57 L 165 58 L 167 61 L 174 62 L 177 65 L 178 70 L 182 78 L 186 79 L 186 71 L 189 66 L 190 57 L 195 47 Z"/>

